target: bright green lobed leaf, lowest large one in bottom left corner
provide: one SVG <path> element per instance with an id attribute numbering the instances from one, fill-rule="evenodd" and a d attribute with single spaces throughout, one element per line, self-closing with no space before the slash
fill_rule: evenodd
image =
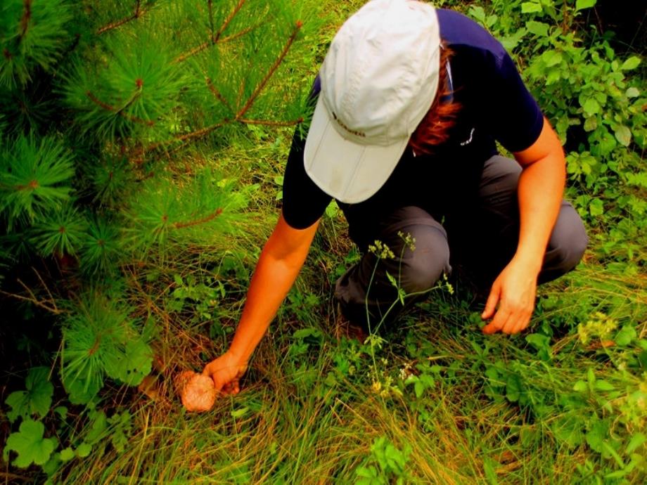
<path id="1" fill-rule="evenodd" d="M 18 453 L 13 465 L 26 468 L 32 463 L 44 465 L 51 453 L 56 449 L 56 439 L 44 438 L 45 426 L 40 421 L 32 419 L 20 423 L 17 433 L 11 433 L 7 438 L 6 449 Z"/>

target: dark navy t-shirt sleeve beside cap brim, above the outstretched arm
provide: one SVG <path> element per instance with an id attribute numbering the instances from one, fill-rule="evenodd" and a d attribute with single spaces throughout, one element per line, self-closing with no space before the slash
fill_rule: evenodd
<path id="1" fill-rule="evenodd" d="M 319 95 L 319 78 L 314 82 L 311 98 Z M 333 198 L 321 190 L 305 172 L 303 151 L 305 137 L 296 129 L 283 176 L 283 219 L 288 226 L 305 229 L 312 226 L 326 211 Z"/>

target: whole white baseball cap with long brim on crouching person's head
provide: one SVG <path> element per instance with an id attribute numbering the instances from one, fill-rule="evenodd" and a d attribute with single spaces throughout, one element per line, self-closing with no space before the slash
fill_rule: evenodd
<path id="1" fill-rule="evenodd" d="M 438 88 L 435 9 L 371 0 L 335 35 L 305 143 L 305 171 L 341 202 L 361 202 L 387 181 Z"/>

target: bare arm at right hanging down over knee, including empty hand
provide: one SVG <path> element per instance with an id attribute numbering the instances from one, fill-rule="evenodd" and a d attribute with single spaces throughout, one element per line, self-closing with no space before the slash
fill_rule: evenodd
<path id="1" fill-rule="evenodd" d="M 537 276 L 542 270 L 566 181 L 564 153 L 546 119 L 537 141 L 514 155 L 523 167 L 518 186 L 519 243 L 513 259 L 492 285 L 481 317 L 494 318 L 483 328 L 485 333 L 516 333 L 530 322 Z"/>

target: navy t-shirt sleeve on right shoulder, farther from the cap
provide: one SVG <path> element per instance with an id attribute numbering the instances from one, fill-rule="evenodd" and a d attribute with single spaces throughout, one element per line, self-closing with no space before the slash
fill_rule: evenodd
<path id="1" fill-rule="evenodd" d="M 486 122 L 506 150 L 519 152 L 537 141 L 544 115 L 503 46 L 497 54 L 490 60 L 492 69 L 483 86 Z"/>

